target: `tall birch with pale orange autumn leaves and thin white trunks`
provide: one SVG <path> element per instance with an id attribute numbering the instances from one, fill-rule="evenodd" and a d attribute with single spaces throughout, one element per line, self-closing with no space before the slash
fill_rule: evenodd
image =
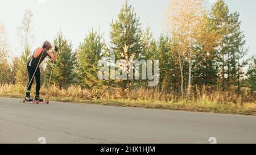
<path id="1" fill-rule="evenodd" d="M 183 77 L 184 57 L 188 61 L 188 91 L 191 95 L 191 71 L 194 46 L 196 44 L 197 25 L 204 13 L 203 0 L 172 0 L 166 10 L 166 27 L 173 37 L 175 37 L 177 51 L 180 61 L 181 78 Z M 182 80 L 182 79 L 181 79 Z M 181 89 L 183 82 L 181 82 Z M 181 90 L 183 94 L 183 90 Z"/>

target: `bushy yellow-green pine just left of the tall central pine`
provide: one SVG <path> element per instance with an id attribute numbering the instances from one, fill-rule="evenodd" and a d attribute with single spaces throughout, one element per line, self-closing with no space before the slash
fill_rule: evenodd
<path id="1" fill-rule="evenodd" d="M 102 59 L 105 48 L 102 35 L 96 31 L 90 31 L 79 47 L 78 51 L 78 77 L 80 85 L 86 88 L 100 88 L 103 82 L 97 77 L 98 61 Z"/>

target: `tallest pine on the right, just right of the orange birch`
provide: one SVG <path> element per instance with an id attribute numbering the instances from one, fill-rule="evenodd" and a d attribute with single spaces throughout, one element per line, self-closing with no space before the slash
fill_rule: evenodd
<path id="1" fill-rule="evenodd" d="M 244 49 L 245 36 L 241 31 L 239 16 L 238 12 L 230 14 L 223 0 L 218 0 L 210 11 L 210 19 L 220 35 L 217 54 L 222 91 L 233 85 L 238 87 L 239 92 L 243 74 L 241 70 L 246 65 L 246 61 L 242 61 L 247 49 Z"/>

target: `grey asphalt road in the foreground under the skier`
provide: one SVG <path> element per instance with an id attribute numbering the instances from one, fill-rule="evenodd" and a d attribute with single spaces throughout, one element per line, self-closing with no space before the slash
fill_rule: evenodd
<path id="1" fill-rule="evenodd" d="M 0 98 L 0 143 L 256 143 L 255 116 L 19 101 Z"/>

